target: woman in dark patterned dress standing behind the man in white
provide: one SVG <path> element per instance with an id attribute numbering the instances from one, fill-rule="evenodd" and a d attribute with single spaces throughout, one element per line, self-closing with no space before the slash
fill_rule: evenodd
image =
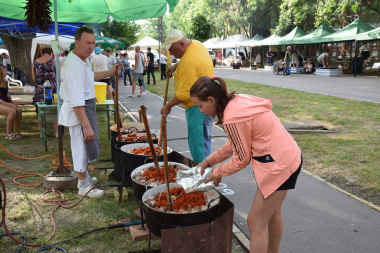
<path id="1" fill-rule="evenodd" d="M 44 48 L 41 50 L 42 56 L 37 58 L 33 62 L 32 66 L 32 78 L 34 82 L 34 97 L 33 104 L 38 102 L 44 102 L 44 83 L 49 80 L 52 86 L 52 93 L 57 93 L 56 86 L 56 65 L 55 60 L 53 60 L 53 50 L 51 48 Z M 40 138 L 41 134 L 41 121 L 37 118 L 40 127 Z M 54 128 L 54 137 L 58 138 L 58 120 L 52 120 Z"/>

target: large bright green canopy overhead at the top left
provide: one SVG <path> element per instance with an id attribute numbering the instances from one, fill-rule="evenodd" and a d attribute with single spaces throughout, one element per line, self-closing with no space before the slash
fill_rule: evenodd
<path id="1" fill-rule="evenodd" d="M 53 4 L 53 0 L 50 1 Z M 57 0 L 57 20 L 59 22 L 103 23 L 109 15 L 117 22 L 128 22 L 145 18 L 162 17 L 174 10 L 178 0 Z M 25 19 L 25 0 L 0 0 L 0 16 Z M 51 7 L 52 20 L 54 4 Z"/>

